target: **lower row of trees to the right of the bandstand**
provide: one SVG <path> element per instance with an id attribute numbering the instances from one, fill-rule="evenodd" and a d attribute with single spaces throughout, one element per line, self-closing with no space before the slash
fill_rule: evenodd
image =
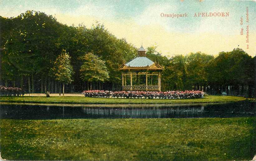
<path id="1" fill-rule="evenodd" d="M 256 57 L 234 48 L 214 57 L 189 53 L 171 58 L 161 56 L 156 47 L 147 48 L 147 56 L 164 65 L 162 90 L 203 90 L 209 94 L 255 97 Z"/>

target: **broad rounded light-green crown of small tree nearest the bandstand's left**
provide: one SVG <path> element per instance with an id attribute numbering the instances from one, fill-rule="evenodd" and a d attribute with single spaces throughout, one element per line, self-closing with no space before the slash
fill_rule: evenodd
<path id="1" fill-rule="evenodd" d="M 81 79 L 88 82 L 104 82 L 109 79 L 109 72 L 103 60 L 98 56 L 88 53 L 81 56 L 80 60 L 84 61 L 80 69 Z"/>

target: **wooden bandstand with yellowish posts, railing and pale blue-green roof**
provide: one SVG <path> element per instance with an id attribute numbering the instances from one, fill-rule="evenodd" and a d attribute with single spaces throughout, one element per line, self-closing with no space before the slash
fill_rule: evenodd
<path id="1" fill-rule="evenodd" d="M 161 72 L 163 67 L 146 57 L 141 46 L 138 56 L 121 65 L 124 91 L 161 91 Z"/>

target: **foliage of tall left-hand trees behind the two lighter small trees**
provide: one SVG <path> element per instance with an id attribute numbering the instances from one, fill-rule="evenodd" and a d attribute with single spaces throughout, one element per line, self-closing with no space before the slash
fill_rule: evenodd
<path id="1" fill-rule="evenodd" d="M 0 22 L 3 42 L 0 48 L 4 49 L 1 77 L 4 80 L 13 80 L 19 74 L 19 78 L 34 75 L 35 79 L 45 81 L 51 77 L 49 71 L 58 53 L 66 49 L 71 56 L 75 85 L 82 82 L 80 68 L 83 62 L 79 58 L 89 52 L 105 61 L 108 82 L 121 84 L 118 67 L 137 53 L 133 45 L 116 38 L 98 23 L 91 28 L 67 26 L 51 15 L 29 10 L 15 18 L 0 17 Z"/>

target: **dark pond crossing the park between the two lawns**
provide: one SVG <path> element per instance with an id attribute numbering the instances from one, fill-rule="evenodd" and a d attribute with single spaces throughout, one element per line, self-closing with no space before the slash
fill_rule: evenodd
<path id="1" fill-rule="evenodd" d="M 0 105 L 0 119 L 207 118 L 252 117 L 255 102 L 183 105 Z"/>

